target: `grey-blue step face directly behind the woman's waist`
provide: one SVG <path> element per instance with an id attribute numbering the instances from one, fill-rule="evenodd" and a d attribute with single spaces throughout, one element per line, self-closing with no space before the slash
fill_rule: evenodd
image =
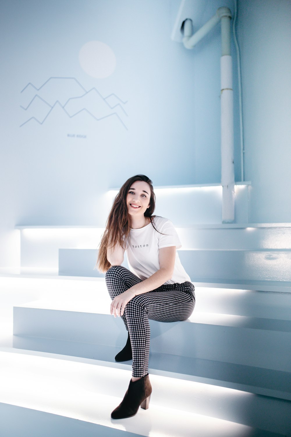
<path id="1" fill-rule="evenodd" d="M 104 276 L 94 270 L 96 250 L 59 249 L 59 274 Z M 196 279 L 212 281 L 281 281 L 291 284 L 291 250 L 178 250 L 185 271 Z M 123 263 L 127 267 L 127 263 Z"/>

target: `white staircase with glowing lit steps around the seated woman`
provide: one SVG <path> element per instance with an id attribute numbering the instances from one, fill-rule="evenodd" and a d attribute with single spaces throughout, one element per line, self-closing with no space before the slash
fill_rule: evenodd
<path id="1" fill-rule="evenodd" d="M 150 408 L 124 420 L 110 412 L 131 362 L 114 360 L 127 333 L 94 277 L 101 232 L 21 227 L 22 274 L 0 276 L 0 436 L 291 436 L 291 225 L 178 228 L 196 307 L 150 322 Z"/>

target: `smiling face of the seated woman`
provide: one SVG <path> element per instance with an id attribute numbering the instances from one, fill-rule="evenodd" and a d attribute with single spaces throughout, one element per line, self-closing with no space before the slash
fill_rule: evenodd
<path id="1" fill-rule="evenodd" d="M 127 191 L 127 211 L 132 216 L 144 215 L 150 207 L 151 188 L 143 180 L 133 182 Z"/>

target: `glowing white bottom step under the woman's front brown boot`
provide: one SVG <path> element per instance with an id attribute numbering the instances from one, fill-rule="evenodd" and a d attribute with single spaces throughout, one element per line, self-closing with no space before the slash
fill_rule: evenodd
<path id="1" fill-rule="evenodd" d="M 288 433 L 291 402 L 280 399 L 151 375 L 150 408 L 139 409 L 137 415 L 129 419 L 111 420 L 110 412 L 127 389 L 130 371 L 101 367 L 93 361 L 90 364 L 67 361 L 52 354 L 38 356 L 3 350 L 0 351 L 0 368 L 0 402 L 63 417 L 64 421 L 56 421 L 55 416 L 50 416 L 51 430 L 54 426 L 70 426 L 66 420 L 70 418 L 143 436 L 267 437 Z M 25 414 L 0 405 L 0 415 L 4 416 L 1 429 L 3 423 L 7 426 L 7 420 L 13 427 L 16 418 L 13 414 L 17 412 Z M 30 413 L 30 416 L 38 423 L 37 414 Z M 94 428 L 95 432 L 103 432 L 99 427 Z M 86 434 L 92 432 L 92 426 L 79 429 L 85 430 L 82 437 L 92 435 Z M 58 434 L 52 432 L 51 435 Z"/>

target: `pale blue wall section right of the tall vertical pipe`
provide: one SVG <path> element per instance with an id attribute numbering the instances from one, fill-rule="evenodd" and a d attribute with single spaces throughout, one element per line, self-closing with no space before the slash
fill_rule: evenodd
<path id="1" fill-rule="evenodd" d="M 291 221 L 291 1 L 241 0 L 250 222 Z"/>

